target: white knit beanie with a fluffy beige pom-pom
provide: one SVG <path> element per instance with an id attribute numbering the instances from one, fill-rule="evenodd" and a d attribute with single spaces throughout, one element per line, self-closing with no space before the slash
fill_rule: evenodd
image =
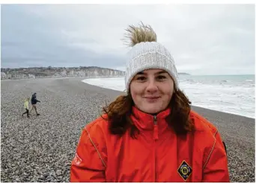
<path id="1" fill-rule="evenodd" d="M 132 40 L 132 49 L 127 54 L 125 74 L 127 92 L 129 91 L 129 85 L 132 78 L 135 77 L 135 74 L 146 69 L 165 70 L 174 80 L 175 89 L 178 89 L 178 75 L 174 59 L 163 45 L 156 42 L 156 34 L 153 32 L 152 28 L 145 26 L 143 28 L 130 26 L 130 28 L 132 28 L 132 31 L 135 31 L 135 33 L 129 31 L 130 35 L 128 36 Z M 152 37 L 150 37 L 150 39 L 148 39 L 147 35 L 143 35 L 143 37 L 141 37 L 141 35 L 138 35 L 138 32 L 139 34 L 155 34 L 155 38 L 152 39 Z"/>

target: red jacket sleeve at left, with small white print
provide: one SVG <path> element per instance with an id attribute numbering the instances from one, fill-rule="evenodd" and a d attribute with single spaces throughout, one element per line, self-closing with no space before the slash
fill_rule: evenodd
<path id="1" fill-rule="evenodd" d="M 100 156 L 100 150 L 96 146 L 97 143 L 92 142 L 91 136 L 85 127 L 76 148 L 76 155 L 71 162 L 71 183 L 106 182 L 105 163 L 102 156 Z"/>

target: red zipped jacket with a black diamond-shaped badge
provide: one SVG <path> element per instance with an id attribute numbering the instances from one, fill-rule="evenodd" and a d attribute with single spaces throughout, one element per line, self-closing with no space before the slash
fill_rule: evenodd
<path id="1" fill-rule="evenodd" d="M 70 182 L 229 182 L 218 130 L 195 112 L 195 132 L 177 136 L 165 121 L 170 110 L 148 115 L 135 107 L 137 139 L 109 133 L 103 118 L 82 131 Z M 155 120 L 155 121 L 154 121 Z M 156 125 L 154 125 L 156 122 Z"/>

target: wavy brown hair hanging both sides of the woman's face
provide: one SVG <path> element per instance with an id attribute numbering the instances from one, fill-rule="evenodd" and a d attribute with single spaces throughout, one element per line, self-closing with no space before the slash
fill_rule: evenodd
<path id="1" fill-rule="evenodd" d="M 191 102 L 180 89 L 174 92 L 168 104 L 171 113 L 166 121 L 178 135 L 186 134 L 194 129 L 194 121 L 189 118 L 190 104 Z M 130 136 L 135 138 L 139 130 L 130 118 L 132 106 L 134 106 L 134 102 L 129 92 L 128 95 L 120 95 L 111 104 L 103 107 L 103 112 L 107 115 L 107 118 L 104 119 L 109 122 L 110 133 L 122 136 L 127 130 L 130 130 Z"/>

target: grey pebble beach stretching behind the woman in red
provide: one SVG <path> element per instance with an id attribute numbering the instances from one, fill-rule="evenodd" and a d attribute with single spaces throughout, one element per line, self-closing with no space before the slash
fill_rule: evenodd
<path id="1" fill-rule="evenodd" d="M 85 78 L 1 80 L 1 182 L 69 182 L 83 127 L 122 92 L 83 83 Z M 25 97 L 37 92 L 36 115 Z M 31 104 L 30 104 L 31 107 Z M 255 119 L 200 107 L 228 149 L 231 182 L 255 183 Z"/>

